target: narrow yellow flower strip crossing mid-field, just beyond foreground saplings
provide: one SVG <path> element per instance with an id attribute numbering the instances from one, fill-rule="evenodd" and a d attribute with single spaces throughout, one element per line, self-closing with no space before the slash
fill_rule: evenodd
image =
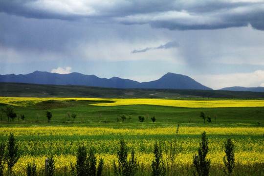
<path id="1" fill-rule="evenodd" d="M 178 134 L 239 134 L 239 135 L 262 135 L 264 128 L 248 127 L 180 127 Z M 176 134 L 176 127 L 150 128 L 150 129 L 114 129 L 103 127 L 2 127 L 0 135 L 9 135 L 12 132 L 15 136 L 60 136 L 60 135 L 162 135 Z"/>

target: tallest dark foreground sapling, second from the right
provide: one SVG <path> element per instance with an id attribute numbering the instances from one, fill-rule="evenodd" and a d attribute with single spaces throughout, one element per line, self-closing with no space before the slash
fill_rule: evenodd
<path id="1" fill-rule="evenodd" d="M 208 176 L 210 169 L 210 159 L 206 159 L 208 153 L 208 139 L 206 138 L 206 132 L 202 133 L 202 141 L 200 148 L 198 148 L 198 158 L 195 156 L 193 159 L 194 166 L 198 173 L 198 176 Z"/>

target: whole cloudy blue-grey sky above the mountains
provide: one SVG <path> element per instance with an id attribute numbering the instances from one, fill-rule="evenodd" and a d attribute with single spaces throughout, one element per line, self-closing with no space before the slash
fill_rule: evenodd
<path id="1" fill-rule="evenodd" d="M 0 75 L 264 87 L 264 0 L 0 0 Z"/>

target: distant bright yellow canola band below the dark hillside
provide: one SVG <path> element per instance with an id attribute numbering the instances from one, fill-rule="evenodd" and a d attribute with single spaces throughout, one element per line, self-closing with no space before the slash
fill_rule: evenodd
<path id="1" fill-rule="evenodd" d="M 169 100 L 169 99 L 117 99 L 117 98 L 27 98 L 0 97 L 0 103 L 13 106 L 30 106 L 48 100 L 92 100 L 112 101 L 112 103 L 91 104 L 94 106 L 124 106 L 124 105 L 157 105 L 183 108 L 229 108 L 229 107 L 264 107 L 264 100 Z"/>

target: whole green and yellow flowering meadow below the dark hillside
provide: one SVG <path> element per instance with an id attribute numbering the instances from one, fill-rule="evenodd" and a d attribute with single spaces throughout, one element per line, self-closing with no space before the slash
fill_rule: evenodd
<path id="1" fill-rule="evenodd" d="M 223 144 L 228 136 L 235 146 L 233 175 L 264 173 L 264 100 L 0 97 L 0 103 L 14 106 L 18 117 L 25 115 L 24 120 L 7 122 L 1 114 L 0 141 L 6 142 L 13 133 L 20 153 L 14 175 L 25 175 L 26 165 L 33 161 L 43 175 L 44 159 L 50 155 L 54 155 L 55 175 L 71 175 L 70 163 L 76 162 L 78 146 L 85 145 L 104 159 L 103 175 L 113 176 L 113 161 L 123 138 L 129 151 L 135 151 L 137 176 L 151 175 L 155 142 L 161 145 L 166 176 L 193 176 L 193 156 L 202 132 L 209 140 L 210 176 L 225 175 Z M 52 112 L 49 123 L 46 110 Z M 211 123 L 204 123 L 201 111 L 212 117 Z M 72 113 L 77 114 L 75 119 L 68 116 Z M 121 114 L 131 119 L 122 122 Z M 138 121 L 140 115 L 145 122 Z"/>

